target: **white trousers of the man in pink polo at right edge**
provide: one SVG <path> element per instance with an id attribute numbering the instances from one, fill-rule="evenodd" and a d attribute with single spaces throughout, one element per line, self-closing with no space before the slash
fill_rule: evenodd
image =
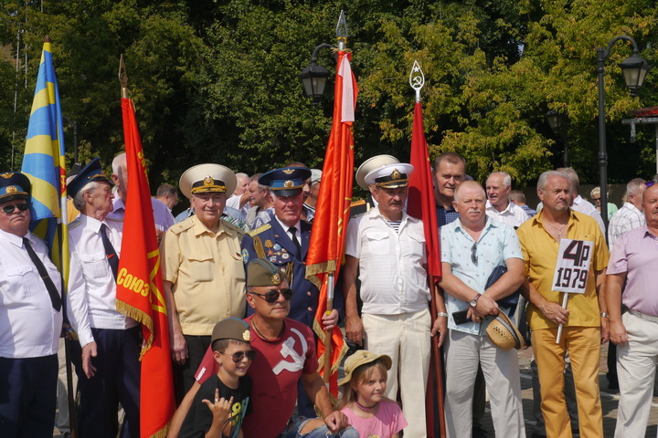
<path id="1" fill-rule="evenodd" d="M 620 403 L 615 438 L 637 438 L 646 433 L 653 401 L 658 359 L 658 323 L 624 313 L 621 321 L 629 341 L 617 346 Z"/>

